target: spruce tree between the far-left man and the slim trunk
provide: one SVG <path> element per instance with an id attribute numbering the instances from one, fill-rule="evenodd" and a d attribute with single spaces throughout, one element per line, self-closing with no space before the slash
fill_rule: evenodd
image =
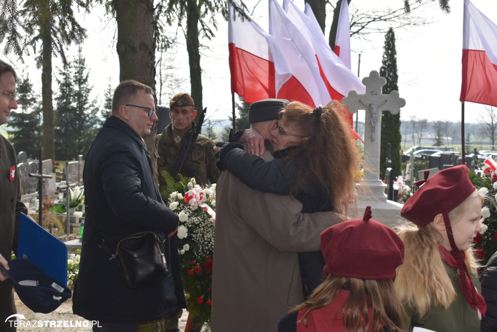
<path id="1" fill-rule="evenodd" d="M 41 107 L 29 77 L 17 85 L 16 94 L 19 108 L 10 114 L 8 120 L 9 127 L 14 129 L 10 135 L 10 143 L 16 152 L 24 151 L 29 157 L 38 157 L 42 139 Z"/>

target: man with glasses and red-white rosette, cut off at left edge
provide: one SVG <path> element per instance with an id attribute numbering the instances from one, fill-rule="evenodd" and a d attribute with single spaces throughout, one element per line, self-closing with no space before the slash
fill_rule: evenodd
<path id="1" fill-rule="evenodd" d="M 0 125 L 7 122 L 12 109 L 17 109 L 15 100 L 17 76 L 12 66 L 0 60 Z M 21 203 L 19 177 L 17 176 L 15 150 L 5 137 L 0 135 L 0 264 L 8 269 L 10 252 L 17 254 L 19 213 L 27 214 Z M 0 272 L 0 331 L 15 331 L 12 321 L 5 319 L 16 313 L 12 282 L 5 280 Z M 3 281 L 4 280 L 4 281 Z"/>

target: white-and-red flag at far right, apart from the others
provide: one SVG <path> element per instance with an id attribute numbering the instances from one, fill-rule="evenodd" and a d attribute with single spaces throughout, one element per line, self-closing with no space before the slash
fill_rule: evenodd
<path id="1" fill-rule="evenodd" d="M 497 107 L 497 25 L 464 0 L 460 101 Z"/>

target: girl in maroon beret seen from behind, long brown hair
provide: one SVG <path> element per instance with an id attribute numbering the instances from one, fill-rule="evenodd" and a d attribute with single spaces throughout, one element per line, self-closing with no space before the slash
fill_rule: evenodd
<path id="1" fill-rule="evenodd" d="M 280 319 L 278 332 L 402 332 L 404 309 L 393 285 L 404 243 L 389 227 L 363 219 L 321 233 L 325 281 Z"/>

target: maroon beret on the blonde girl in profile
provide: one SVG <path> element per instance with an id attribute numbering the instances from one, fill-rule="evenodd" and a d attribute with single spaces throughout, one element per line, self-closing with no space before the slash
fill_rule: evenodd
<path id="1" fill-rule="evenodd" d="M 425 180 L 404 204 L 401 216 L 421 228 L 431 223 L 437 214 L 448 214 L 476 189 L 468 172 L 468 167 L 459 165 L 441 170 Z"/>

